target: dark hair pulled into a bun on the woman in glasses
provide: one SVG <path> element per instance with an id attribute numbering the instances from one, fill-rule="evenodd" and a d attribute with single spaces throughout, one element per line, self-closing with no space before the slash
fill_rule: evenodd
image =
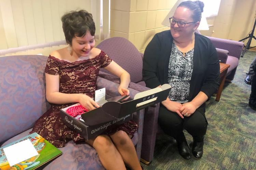
<path id="1" fill-rule="evenodd" d="M 184 1 L 180 3 L 178 7 L 180 6 L 186 7 L 193 12 L 191 17 L 194 21 L 201 21 L 204 7 L 204 3 L 202 1 Z"/>

